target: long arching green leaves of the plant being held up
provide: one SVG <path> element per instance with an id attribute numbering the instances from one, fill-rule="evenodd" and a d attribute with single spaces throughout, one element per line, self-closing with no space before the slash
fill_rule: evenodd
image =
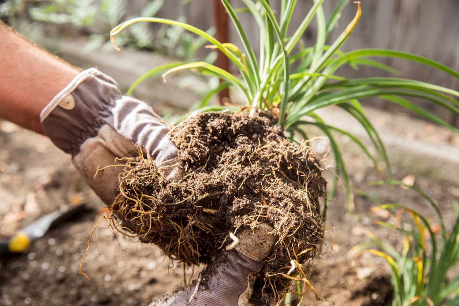
<path id="1" fill-rule="evenodd" d="M 447 127 L 455 133 L 459 133 L 458 129 L 441 118 L 406 99 L 407 97 L 424 98 L 449 111 L 459 113 L 459 102 L 451 97 L 459 96 L 459 92 L 456 90 L 403 78 L 345 79 L 334 75 L 336 70 L 343 65 L 350 65 L 354 68 L 358 66 L 371 66 L 396 73 L 395 69 L 387 67 L 380 61 L 373 59 L 374 57 L 394 57 L 419 62 L 426 66 L 439 69 L 454 78 L 459 78 L 458 72 L 437 61 L 405 52 L 384 49 L 362 49 L 343 53 L 340 47 L 353 32 L 361 16 L 359 2 L 357 2 L 358 10 L 355 18 L 348 24 L 345 31 L 341 33 L 335 42 L 331 45 L 326 45 L 326 39 L 340 19 L 340 12 L 349 0 L 341 0 L 331 13 L 328 21 L 325 20 L 325 13 L 322 8 L 324 0 L 314 0 L 313 7 L 304 17 L 299 28 L 290 37 L 286 33 L 297 0 L 281 1 L 279 21 L 274 16 L 268 0 L 242 1 L 246 5 L 246 8 L 243 10 L 238 9 L 237 11 L 249 11 L 255 18 L 260 29 L 260 54 L 258 57 L 255 56 L 236 11 L 229 4 L 228 0 L 222 0 L 222 3 L 241 38 L 245 53 L 235 45 L 219 42 L 209 33 L 184 22 L 154 17 L 134 18 L 119 24 L 112 29 L 111 39 L 113 41 L 115 35 L 118 35 L 124 28 L 137 22 L 155 22 L 177 26 L 206 39 L 213 45 L 213 48 L 218 48 L 228 56 L 230 61 L 237 67 L 239 71 L 238 75 L 233 75 L 206 62 L 177 62 L 156 67 L 144 74 L 140 79 L 155 77 L 160 73 L 164 73 L 165 77 L 171 72 L 194 69 L 196 72 L 218 77 L 226 82 L 217 89 L 212 89 L 209 95 L 217 94 L 219 90 L 231 85 L 239 89 L 245 96 L 246 105 L 250 107 L 252 113 L 262 110 L 276 114 L 279 125 L 284 127 L 286 135 L 292 141 L 295 141 L 293 138 L 294 134 L 299 134 L 302 138 L 307 139 L 307 135 L 303 131 L 304 126 L 314 125 L 320 128 L 330 139 L 330 145 L 335 156 L 336 177 L 330 190 L 329 198 L 331 199 L 335 193 L 339 175 L 346 189 L 349 210 L 353 210 L 351 183 L 341 150 L 333 137 L 333 133 L 349 136 L 364 150 L 364 153 L 374 162 L 375 167 L 380 169 L 381 172 L 382 169 L 377 162 L 376 156 L 366 149 L 361 139 L 354 137 L 347 131 L 325 124 L 324 120 L 315 111 L 330 105 L 338 105 L 357 120 L 368 133 L 377 154 L 382 156 L 385 163 L 385 176 L 389 179 L 392 178 L 392 171 L 386 149 L 380 136 L 366 117 L 361 99 L 380 97 L 383 100 L 403 106 L 420 116 Z M 313 20 L 313 17 L 316 17 L 318 24 L 318 38 L 316 43 L 310 47 L 300 46 L 298 52 L 293 53 L 306 28 L 308 28 L 308 25 Z M 171 65 L 174 67 L 171 67 Z M 295 71 L 292 71 L 295 65 L 298 66 Z M 140 82 L 136 82 L 135 86 L 138 83 Z M 131 87 L 129 93 L 132 93 L 135 86 Z M 208 101 L 210 100 L 208 97 L 206 95 L 200 107 L 194 111 L 238 110 L 237 107 L 233 106 L 208 105 Z"/>

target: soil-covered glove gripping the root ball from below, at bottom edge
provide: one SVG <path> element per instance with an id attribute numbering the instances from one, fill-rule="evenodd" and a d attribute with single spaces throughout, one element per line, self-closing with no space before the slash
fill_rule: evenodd
<path id="1" fill-rule="evenodd" d="M 190 286 L 149 306 L 251 306 L 257 272 L 274 245 L 271 231 L 264 223 L 254 232 L 242 230 L 239 244 L 225 250 Z"/>

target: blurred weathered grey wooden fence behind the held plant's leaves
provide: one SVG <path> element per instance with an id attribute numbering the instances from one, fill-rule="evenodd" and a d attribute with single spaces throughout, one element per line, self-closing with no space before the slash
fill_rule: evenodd
<path id="1" fill-rule="evenodd" d="M 131 1 L 130 9 L 137 10 L 146 0 Z M 158 17 L 177 19 L 185 16 L 188 23 L 202 29 L 213 25 L 213 0 L 165 0 Z M 326 16 L 339 0 L 325 0 Z M 362 18 L 342 50 L 358 48 L 387 48 L 427 56 L 440 61 L 459 71 L 459 0 L 361 0 Z M 231 0 L 234 7 L 243 7 L 241 0 Z M 274 10 L 280 11 L 280 0 L 271 0 Z M 297 9 L 289 30 L 293 31 L 313 5 L 312 0 L 298 0 Z M 330 35 L 332 42 L 346 28 L 347 22 L 355 15 L 356 5 L 350 3 L 342 12 L 339 27 Z M 256 22 L 247 13 L 241 13 L 241 22 L 247 36 L 258 50 L 258 28 Z M 236 31 L 230 25 L 230 40 L 241 45 Z M 315 41 L 316 26 L 313 21 L 303 36 L 306 45 Z M 420 81 L 436 83 L 448 88 L 458 89 L 457 79 L 449 77 L 433 68 L 424 67 L 409 61 L 398 59 L 384 60 L 386 64 L 397 68 L 400 78 L 414 78 Z M 362 68 L 358 72 L 352 69 L 338 71 L 345 77 L 386 76 L 384 72 Z M 416 101 L 420 106 L 436 113 L 439 117 L 459 127 L 459 117 L 430 102 Z M 378 105 L 392 111 L 400 111 L 397 106 L 373 100 Z"/>

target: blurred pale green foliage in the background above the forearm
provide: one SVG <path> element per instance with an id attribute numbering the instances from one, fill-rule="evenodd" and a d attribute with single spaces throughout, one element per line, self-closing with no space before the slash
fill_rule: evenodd
<path id="1" fill-rule="evenodd" d="M 0 4 L 0 18 L 11 27 L 38 45 L 52 49 L 52 39 L 75 34 L 88 35 L 89 41 L 84 51 L 101 48 L 112 50 L 110 29 L 127 16 L 128 0 L 6 0 Z M 164 0 L 150 0 L 140 11 L 140 16 L 153 17 L 161 10 Z M 184 17 L 180 18 L 185 21 Z M 50 24 L 62 25 L 50 27 Z M 134 49 L 157 50 L 179 59 L 194 60 L 196 50 L 205 39 L 196 37 L 177 28 L 162 27 L 156 38 L 146 23 L 135 24 L 128 31 L 118 35 L 119 46 Z M 213 34 L 213 28 L 208 30 Z M 51 39 L 52 38 L 52 39 Z M 212 52 L 206 61 L 213 62 L 216 53 Z"/>

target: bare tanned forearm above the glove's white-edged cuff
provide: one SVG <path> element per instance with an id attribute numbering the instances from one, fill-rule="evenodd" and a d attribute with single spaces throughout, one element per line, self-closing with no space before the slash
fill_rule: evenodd
<path id="1" fill-rule="evenodd" d="M 0 118 L 43 134 L 41 110 L 80 71 L 0 22 Z"/>

